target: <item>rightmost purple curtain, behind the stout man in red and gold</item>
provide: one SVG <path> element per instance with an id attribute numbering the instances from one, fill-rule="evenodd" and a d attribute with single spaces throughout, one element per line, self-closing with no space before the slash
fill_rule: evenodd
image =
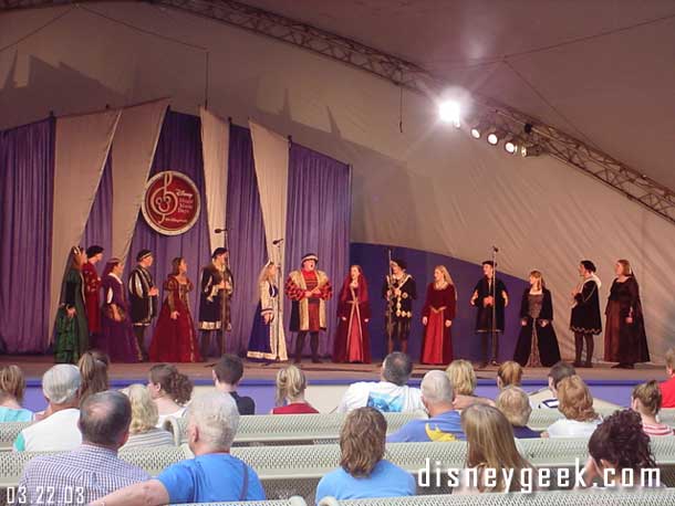
<path id="1" fill-rule="evenodd" d="M 328 305 L 328 331 L 321 337 L 319 351 L 322 355 L 332 354 L 333 350 L 333 334 L 338 328 L 336 296 L 349 268 L 352 203 L 350 175 L 350 166 L 291 144 L 285 271 L 288 274 L 298 268 L 304 253 L 316 253 L 319 268 L 331 280 L 334 294 Z M 287 301 L 287 324 L 290 320 L 290 309 Z M 288 335 L 287 339 L 292 342 L 294 336 Z M 307 346 L 309 348 L 309 344 Z"/>

